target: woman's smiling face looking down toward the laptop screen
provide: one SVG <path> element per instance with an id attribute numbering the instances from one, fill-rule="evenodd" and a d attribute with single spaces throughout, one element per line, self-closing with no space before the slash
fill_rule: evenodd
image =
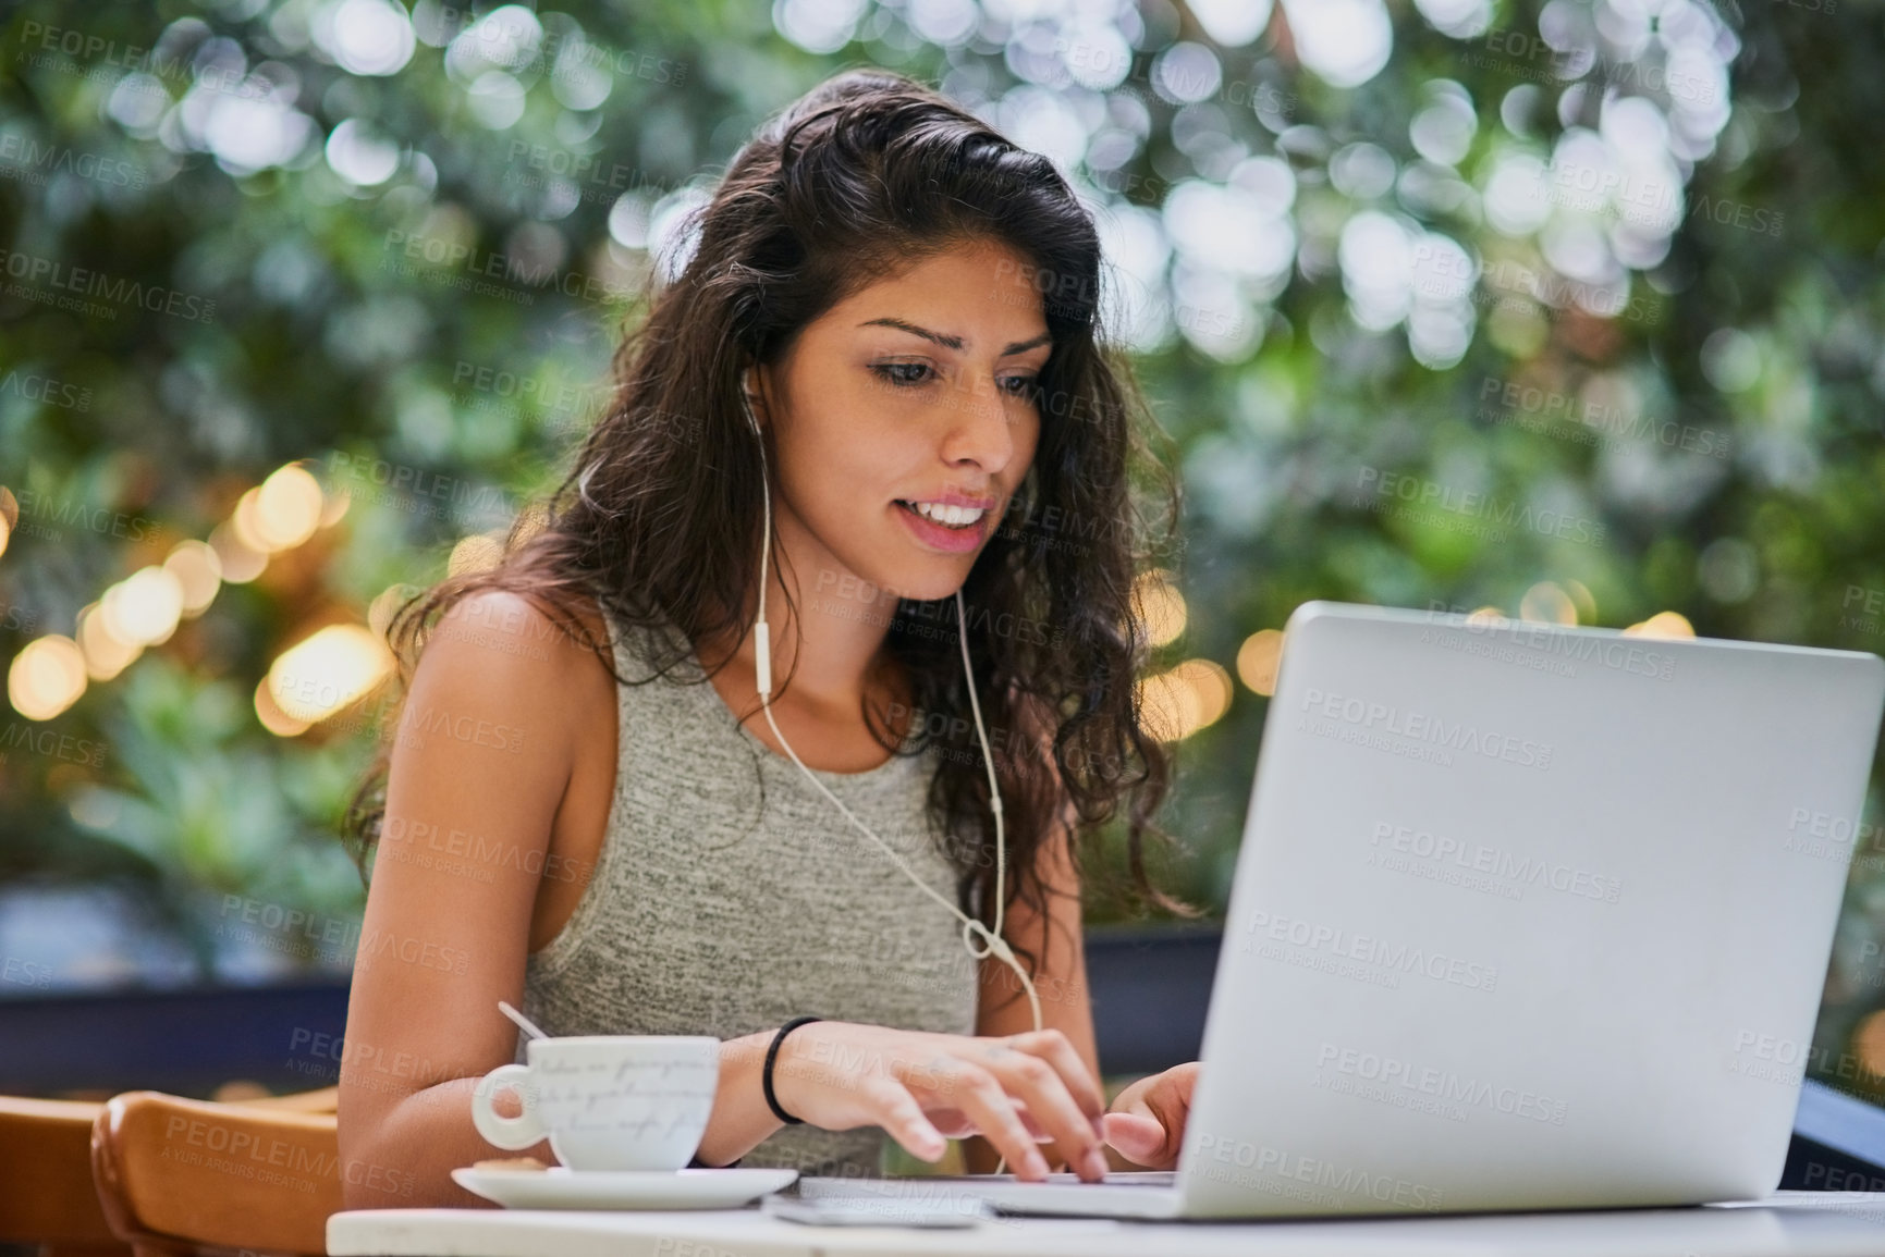
<path id="1" fill-rule="evenodd" d="M 961 588 L 1033 462 L 1048 351 L 1029 262 L 973 243 L 839 302 L 762 367 L 801 596 Z"/>

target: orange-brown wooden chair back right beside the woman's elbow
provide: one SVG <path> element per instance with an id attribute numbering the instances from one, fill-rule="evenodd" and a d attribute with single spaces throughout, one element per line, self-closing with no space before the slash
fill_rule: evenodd
<path id="1" fill-rule="evenodd" d="M 92 1123 L 92 1178 L 111 1231 L 139 1253 L 326 1253 L 341 1208 L 334 1114 L 279 1102 L 126 1091 Z"/>

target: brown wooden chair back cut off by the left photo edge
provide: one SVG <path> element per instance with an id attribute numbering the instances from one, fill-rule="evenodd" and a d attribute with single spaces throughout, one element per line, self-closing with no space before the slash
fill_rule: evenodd
<path id="1" fill-rule="evenodd" d="M 92 1121 L 102 1110 L 0 1095 L 0 1244 L 130 1257 L 92 1189 Z"/>

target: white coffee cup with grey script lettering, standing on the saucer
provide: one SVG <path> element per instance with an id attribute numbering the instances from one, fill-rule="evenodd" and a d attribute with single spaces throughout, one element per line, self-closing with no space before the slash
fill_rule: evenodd
<path id="1" fill-rule="evenodd" d="M 571 1170 L 679 1170 L 699 1150 L 720 1086 L 720 1040 L 673 1035 L 532 1038 L 530 1065 L 500 1065 L 471 1093 L 488 1144 L 530 1148 L 549 1136 Z M 522 1112 L 501 1118 L 498 1091 Z"/>

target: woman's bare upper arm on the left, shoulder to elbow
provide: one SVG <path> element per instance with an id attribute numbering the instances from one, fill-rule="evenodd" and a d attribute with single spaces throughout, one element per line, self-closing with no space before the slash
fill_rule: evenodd
<path id="1" fill-rule="evenodd" d="M 492 622 L 535 629 L 503 652 Z M 500 1155 L 471 1125 L 471 1089 L 513 1059 L 524 954 L 582 718 L 584 654 L 528 601 L 481 594 L 426 645 L 402 709 L 347 1004 L 339 1076 L 347 1208 L 479 1204 L 451 1170 Z M 601 671 L 594 656 L 588 667 Z M 613 718 L 609 722 L 613 726 Z M 547 1144 L 528 1150 L 554 1161 Z M 396 1174 L 390 1170 L 398 1170 Z M 409 1195 L 396 1195 L 403 1187 Z"/>

